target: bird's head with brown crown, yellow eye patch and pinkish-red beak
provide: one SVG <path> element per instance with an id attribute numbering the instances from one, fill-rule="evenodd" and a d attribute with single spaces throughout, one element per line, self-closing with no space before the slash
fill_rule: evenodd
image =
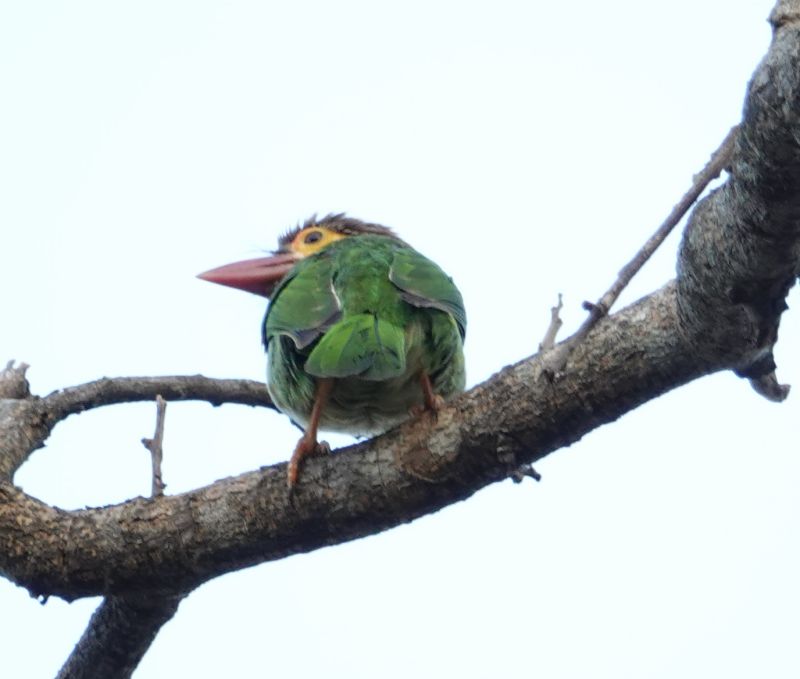
<path id="1" fill-rule="evenodd" d="M 332 214 L 322 219 L 317 219 L 315 215 L 281 236 L 278 240 L 278 249 L 270 257 L 226 264 L 205 271 L 197 277 L 204 281 L 269 297 L 280 280 L 301 259 L 321 252 L 338 240 L 363 234 L 399 240 L 394 231 L 380 224 L 362 222 L 344 214 Z"/>

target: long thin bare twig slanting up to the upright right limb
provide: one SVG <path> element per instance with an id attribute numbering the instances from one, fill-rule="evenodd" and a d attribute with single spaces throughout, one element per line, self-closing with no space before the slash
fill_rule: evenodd
<path id="1" fill-rule="evenodd" d="M 658 227 L 656 232 L 650 236 L 634 258 L 620 270 L 617 280 L 614 281 L 614 284 L 606 293 L 595 303 L 583 303 L 583 308 L 589 312 L 589 316 L 572 336 L 572 346 L 578 344 L 586 337 L 589 331 L 603 316 L 608 315 L 614 302 L 617 301 L 620 293 L 622 293 L 628 283 L 631 282 L 631 279 L 644 266 L 645 262 L 650 259 L 651 255 L 658 249 L 661 243 L 664 242 L 672 229 L 680 223 L 689 208 L 694 205 L 695 201 L 700 197 L 703 191 L 706 190 L 706 187 L 714 179 L 719 177 L 722 171 L 730 165 L 731 156 L 733 155 L 733 145 L 736 140 L 738 129 L 738 125 L 731 128 L 730 132 L 728 132 L 725 139 L 719 145 L 719 148 L 711 155 L 706 166 L 693 177 L 691 188 L 684 194 L 683 198 L 678 201 L 677 205 L 672 208 L 672 212 L 669 213 L 669 216 L 664 220 L 661 226 Z"/>

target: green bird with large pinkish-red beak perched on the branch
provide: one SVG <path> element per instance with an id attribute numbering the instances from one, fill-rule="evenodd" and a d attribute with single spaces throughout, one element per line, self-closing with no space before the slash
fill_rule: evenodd
<path id="1" fill-rule="evenodd" d="M 305 433 L 305 457 L 327 450 L 319 429 L 384 432 L 464 389 L 467 317 L 452 279 L 391 229 L 344 214 L 312 217 L 272 257 L 200 278 L 270 299 L 262 327 L 267 387 Z"/>

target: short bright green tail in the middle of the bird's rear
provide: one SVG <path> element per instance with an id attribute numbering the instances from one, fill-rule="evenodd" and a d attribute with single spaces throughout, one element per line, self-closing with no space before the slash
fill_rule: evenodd
<path id="1" fill-rule="evenodd" d="M 356 314 L 334 325 L 305 364 L 316 377 L 386 380 L 406 369 L 405 333 L 373 314 Z"/>

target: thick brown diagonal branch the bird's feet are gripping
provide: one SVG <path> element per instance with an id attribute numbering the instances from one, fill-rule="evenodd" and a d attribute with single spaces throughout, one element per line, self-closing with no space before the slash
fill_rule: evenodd
<path id="1" fill-rule="evenodd" d="M 74 512 L 0 484 L 0 570 L 32 593 L 67 599 L 169 593 L 410 521 L 712 370 L 676 323 L 668 286 L 601 322 L 555 384 L 540 379 L 538 358 L 506 368 L 448 404 L 438 422 L 423 416 L 309 460 L 291 497 L 284 465 Z"/>

